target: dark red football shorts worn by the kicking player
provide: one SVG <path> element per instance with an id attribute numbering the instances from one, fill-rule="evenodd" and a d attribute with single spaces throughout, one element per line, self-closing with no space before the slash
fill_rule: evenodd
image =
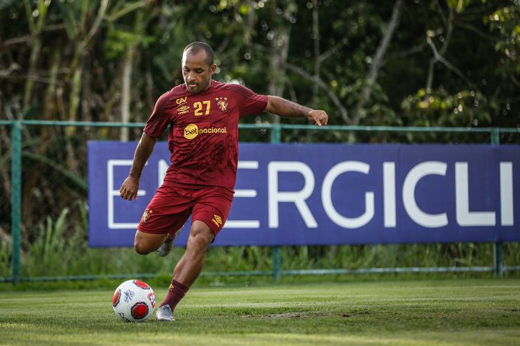
<path id="1" fill-rule="evenodd" d="M 191 215 L 191 222 L 200 220 L 217 235 L 232 201 L 233 192 L 219 186 L 189 189 L 162 185 L 144 210 L 137 229 L 154 234 L 175 232 Z"/>

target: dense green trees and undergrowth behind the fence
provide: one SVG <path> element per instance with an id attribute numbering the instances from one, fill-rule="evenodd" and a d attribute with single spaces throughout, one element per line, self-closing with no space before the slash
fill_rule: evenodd
<path id="1" fill-rule="evenodd" d="M 145 121 L 159 95 L 182 83 L 184 46 L 202 40 L 216 52 L 216 80 L 266 94 L 276 78 L 281 96 L 324 109 L 333 125 L 518 127 L 519 1 L 403 1 L 395 35 L 369 85 L 396 3 L 0 0 L 0 118 L 119 121 L 128 63 L 131 120 Z M 283 62 L 274 69 L 277 59 Z M 349 118 L 367 87 L 370 98 L 358 118 Z M 271 117 L 241 121 L 268 123 Z M 119 139 L 119 129 L 26 127 L 23 136 L 24 275 L 169 275 L 171 260 L 136 257 L 127 248 L 87 248 L 86 143 Z M 130 140 L 140 136 L 141 129 L 130 131 Z M 0 127 L 2 179 L 10 176 L 9 139 Z M 241 131 L 242 141 L 269 139 L 265 129 Z M 281 140 L 489 143 L 489 136 L 293 130 Z M 501 138 L 519 142 L 517 134 Z M 0 227 L 9 232 L 8 182 L 0 185 L 0 197 Z M 9 273 L 9 247 L 1 246 L 0 268 Z M 490 258 L 486 244 L 295 247 L 281 255 L 284 268 L 469 265 Z M 269 248 L 212 248 L 206 270 L 269 270 L 270 261 Z"/>

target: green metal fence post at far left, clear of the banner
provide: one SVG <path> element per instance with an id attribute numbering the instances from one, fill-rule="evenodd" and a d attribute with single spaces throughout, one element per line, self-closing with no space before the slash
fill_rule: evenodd
<path id="1" fill-rule="evenodd" d="M 11 237 L 12 284 L 20 280 L 20 217 L 21 217 L 21 122 L 11 129 Z"/>

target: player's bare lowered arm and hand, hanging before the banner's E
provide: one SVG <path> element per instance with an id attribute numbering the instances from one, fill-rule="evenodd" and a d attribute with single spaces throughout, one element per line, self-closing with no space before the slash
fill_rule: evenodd
<path id="1" fill-rule="evenodd" d="M 141 136 L 141 140 L 139 140 L 139 144 L 137 144 L 137 148 L 135 149 L 134 161 L 132 163 L 132 168 L 130 169 L 130 174 L 128 174 L 128 178 L 123 181 L 123 184 L 119 189 L 119 195 L 121 198 L 130 201 L 132 199 L 137 199 L 139 179 L 141 178 L 141 173 L 143 172 L 143 167 L 146 161 L 148 161 L 148 158 L 153 152 L 155 143 L 157 143 L 157 138 L 148 136 L 143 132 L 143 136 Z"/>

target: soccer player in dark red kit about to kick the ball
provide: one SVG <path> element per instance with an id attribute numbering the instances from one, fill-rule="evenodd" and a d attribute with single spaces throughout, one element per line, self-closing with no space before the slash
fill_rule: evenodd
<path id="1" fill-rule="evenodd" d="M 225 224 L 234 194 L 239 151 L 239 118 L 262 111 L 305 117 L 327 125 L 327 113 L 277 96 L 257 95 L 245 86 L 211 80 L 214 53 L 208 44 L 184 48 L 184 84 L 164 93 L 146 122 L 128 178 L 119 193 L 136 199 L 139 178 L 157 139 L 170 126 L 171 165 L 137 227 L 134 248 L 141 255 L 167 255 L 191 215 L 186 251 L 175 269 L 156 320 L 171 321 L 177 303 L 197 279 L 209 244 Z"/>

